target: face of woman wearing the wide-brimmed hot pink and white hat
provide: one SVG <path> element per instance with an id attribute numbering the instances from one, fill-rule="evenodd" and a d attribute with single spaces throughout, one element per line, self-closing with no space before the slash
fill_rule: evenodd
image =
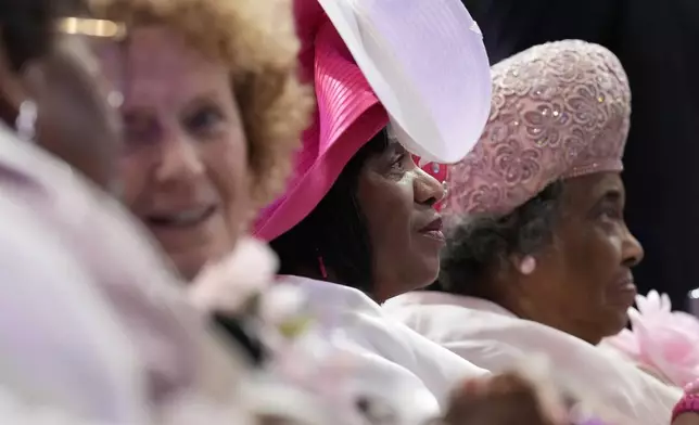
<path id="1" fill-rule="evenodd" d="M 420 169 L 396 142 L 365 163 L 357 199 L 371 240 L 378 300 L 436 279 L 444 234 L 434 205 L 443 197 L 442 183 Z"/>

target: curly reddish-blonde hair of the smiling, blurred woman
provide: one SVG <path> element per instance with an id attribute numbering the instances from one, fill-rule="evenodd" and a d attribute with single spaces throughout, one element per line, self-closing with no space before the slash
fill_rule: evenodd
<path id="1" fill-rule="evenodd" d="M 90 12 L 128 26 L 162 23 L 231 70 L 249 143 L 256 207 L 283 190 L 315 101 L 297 73 L 291 0 L 89 0 Z"/>

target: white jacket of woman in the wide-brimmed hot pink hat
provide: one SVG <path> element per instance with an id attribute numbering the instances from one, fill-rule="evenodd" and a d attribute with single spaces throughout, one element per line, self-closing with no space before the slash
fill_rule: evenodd
<path id="1" fill-rule="evenodd" d="M 456 383 L 488 373 L 389 318 L 360 291 L 300 276 L 281 280 L 303 288 L 313 314 L 335 335 L 334 348 L 351 355 L 355 390 L 398 397 L 392 405 L 407 409 L 398 413 L 404 423 L 437 414 Z"/>

